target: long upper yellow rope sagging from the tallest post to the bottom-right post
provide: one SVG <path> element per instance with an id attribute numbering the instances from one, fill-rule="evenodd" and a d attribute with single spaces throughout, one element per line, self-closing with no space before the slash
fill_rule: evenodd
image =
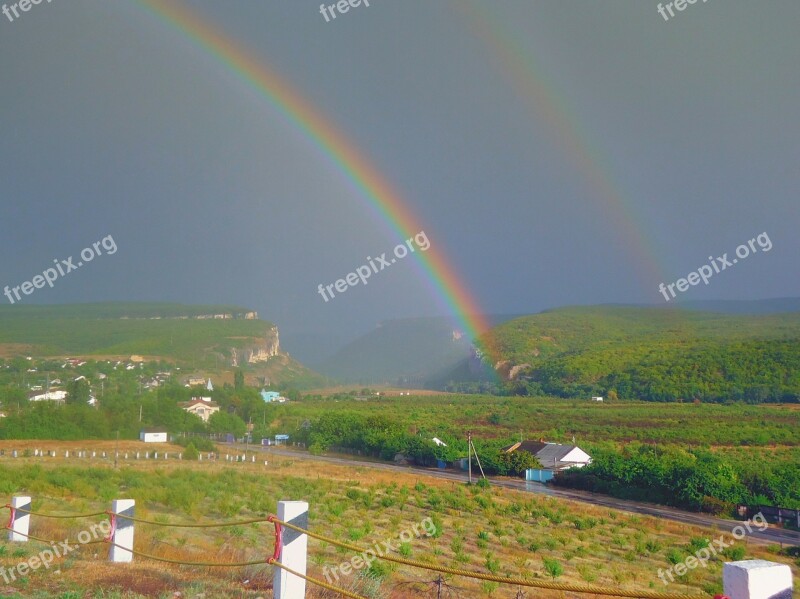
<path id="1" fill-rule="evenodd" d="M 314 533 L 305 529 L 300 528 L 299 526 L 295 526 L 294 524 L 290 524 L 289 522 L 283 522 L 281 520 L 276 520 L 281 526 L 285 528 L 290 528 L 297 532 L 303 533 L 312 537 L 314 539 L 324 541 L 326 543 L 330 543 L 331 545 L 335 545 L 337 547 L 342 547 L 344 549 L 348 549 L 350 551 L 354 551 L 356 553 L 365 553 L 365 550 L 362 547 L 357 545 L 352 545 L 350 543 L 344 543 L 342 541 L 338 541 L 336 539 L 332 539 L 330 537 L 326 537 L 325 535 L 321 535 L 318 533 Z M 371 551 L 371 553 L 375 553 Z M 494 576 L 492 574 L 483 574 L 481 572 L 471 572 L 469 570 L 460 570 L 458 568 L 448 568 L 446 566 L 437 566 L 435 564 L 430 564 L 426 562 L 420 562 L 417 560 L 405 559 L 401 557 L 393 557 L 389 555 L 376 555 L 377 558 L 385 559 L 390 562 L 395 562 L 398 564 L 403 564 L 406 566 L 413 566 L 415 568 L 423 568 L 425 570 L 432 570 L 434 572 L 441 572 L 443 574 L 454 574 L 456 576 L 466 576 L 468 578 L 477 578 L 479 580 L 488 580 L 491 582 L 500 582 L 504 584 L 512 584 L 512 585 L 520 585 L 520 586 L 527 586 L 527 587 L 536 587 L 541 589 L 551 589 L 557 591 L 569 591 L 572 593 L 589 593 L 594 595 L 607 595 L 611 597 L 633 597 L 636 599 L 701 599 L 702 597 L 708 597 L 708 595 L 681 595 L 681 594 L 674 594 L 674 593 L 660 593 L 658 591 L 628 591 L 625 589 L 612 589 L 609 587 L 601 587 L 598 585 L 589 585 L 589 584 L 570 584 L 570 583 L 561 583 L 555 581 L 545 581 L 545 580 L 528 580 L 527 578 L 519 578 L 519 577 L 505 577 L 505 576 Z"/>

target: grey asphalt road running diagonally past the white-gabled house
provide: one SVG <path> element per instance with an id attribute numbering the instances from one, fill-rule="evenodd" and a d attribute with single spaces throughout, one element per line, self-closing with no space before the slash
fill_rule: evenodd
<path id="1" fill-rule="evenodd" d="M 244 450 L 244 445 L 237 446 L 238 449 Z M 467 474 L 456 472 L 453 470 L 439 470 L 436 468 L 420 468 L 417 466 L 396 466 L 394 464 L 386 464 L 383 462 L 372 462 L 366 460 L 351 459 L 348 457 L 333 457 L 333 456 L 312 456 L 304 451 L 296 451 L 291 449 L 280 449 L 275 446 L 260 447 L 249 446 L 250 451 L 261 451 L 266 454 L 279 455 L 283 457 L 291 457 L 300 460 L 312 460 L 317 462 L 329 462 L 332 464 L 339 464 L 342 466 L 360 466 L 364 468 L 374 468 L 376 470 L 388 470 L 392 472 L 403 472 L 405 474 L 418 474 L 420 476 L 430 476 L 433 478 L 452 480 L 457 482 L 466 482 Z M 476 474 L 477 470 L 473 470 Z M 742 522 L 735 520 L 723 520 L 715 518 L 707 514 L 697 514 L 695 512 L 686 512 L 683 510 L 660 506 L 651 503 L 641 503 L 637 501 L 628 501 L 625 499 L 616 499 L 608 495 L 599 495 L 597 493 L 588 493 L 586 491 L 574 491 L 571 489 L 554 488 L 542 483 L 527 482 L 523 480 L 514 480 L 506 478 L 489 478 L 492 485 L 498 487 L 505 487 L 507 489 L 515 489 L 527 493 L 539 493 L 542 495 L 549 495 L 551 497 L 561 497 L 563 499 L 570 499 L 572 501 L 582 501 L 592 505 L 614 508 L 623 510 L 634 514 L 644 514 L 647 516 L 654 516 L 656 518 L 663 518 L 665 520 L 672 520 L 674 522 L 682 522 L 684 524 L 694 524 L 697 526 L 705 526 L 709 528 L 718 529 L 723 532 L 730 532 L 737 526 L 742 525 Z M 800 532 L 791 530 L 784 530 L 770 526 L 763 532 L 755 525 L 752 526 L 752 533 L 748 534 L 751 539 L 758 539 L 768 543 L 780 543 L 783 545 L 797 545 L 800 546 Z"/>

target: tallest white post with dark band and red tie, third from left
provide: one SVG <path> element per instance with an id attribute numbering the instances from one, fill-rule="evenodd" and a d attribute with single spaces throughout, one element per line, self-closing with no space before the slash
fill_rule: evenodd
<path id="1" fill-rule="evenodd" d="M 305 501 L 279 501 L 278 520 L 290 522 L 308 530 L 308 503 Z M 300 574 L 306 574 L 308 535 L 290 528 L 283 529 L 283 548 L 280 562 Z M 275 567 L 275 599 L 301 599 L 306 596 L 306 581 Z"/>

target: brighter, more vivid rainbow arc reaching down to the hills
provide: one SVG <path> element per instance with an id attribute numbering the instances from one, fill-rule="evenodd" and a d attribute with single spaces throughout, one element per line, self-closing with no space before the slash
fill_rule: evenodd
<path id="1" fill-rule="evenodd" d="M 360 192 L 371 208 L 402 241 L 424 230 L 407 202 L 370 161 L 324 114 L 261 57 L 247 51 L 177 0 L 137 0 L 137 4 L 177 29 L 211 54 L 241 80 L 255 88 L 281 115 L 310 140 Z M 451 313 L 470 338 L 489 329 L 483 311 L 460 280 L 435 240 L 425 253 L 414 254 L 437 301 Z M 312 290 L 315 292 L 315 290 Z"/>

